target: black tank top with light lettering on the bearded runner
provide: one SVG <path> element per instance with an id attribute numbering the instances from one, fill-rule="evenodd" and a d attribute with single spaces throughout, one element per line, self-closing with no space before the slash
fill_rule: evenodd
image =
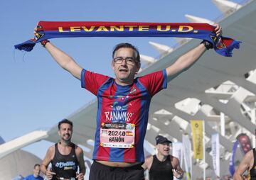
<path id="1" fill-rule="evenodd" d="M 78 159 L 75 155 L 75 144 L 72 144 L 72 150 L 70 154 L 63 155 L 58 151 L 58 143 L 55 144 L 55 154 L 51 160 L 52 171 L 56 173 L 56 176 L 53 176 L 53 180 L 62 178 L 74 178 L 76 172 L 78 171 Z"/>

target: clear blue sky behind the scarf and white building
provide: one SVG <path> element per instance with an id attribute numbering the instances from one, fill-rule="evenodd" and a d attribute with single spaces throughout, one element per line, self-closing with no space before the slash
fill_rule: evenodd
<path id="1" fill-rule="evenodd" d="M 58 67 L 41 45 L 31 52 L 14 45 L 33 37 L 38 21 L 188 22 L 184 14 L 213 20 L 220 11 L 210 0 L 196 1 L 1 1 L 0 3 L 0 135 L 9 141 L 33 130 L 48 129 L 95 96 L 80 81 Z M 224 35 L 226 34 L 223 32 Z M 149 41 L 172 46 L 172 38 L 60 38 L 55 45 L 85 69 L 113 76 L 112 48 L 136 45 L 143 55 L 157 57 Z M 24 148 L 43 158 L 49 142 Z"/>

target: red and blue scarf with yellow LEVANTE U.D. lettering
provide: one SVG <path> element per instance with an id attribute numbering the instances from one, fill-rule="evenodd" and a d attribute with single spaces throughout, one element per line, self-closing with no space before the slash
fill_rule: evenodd
<path id="1" fill-rule="evenodd" d="M 213 43 L 214 50 L 232 56 L 241 42 L 222 36 L 216 37 L 208 23 L 134 23 L 100 21 L 40 21 L 38 37 L 15 45 L 18 50 L 31 51 L 36 43 L 51 38 L 76 37 L 177 37 L 198 38 Z"/>

